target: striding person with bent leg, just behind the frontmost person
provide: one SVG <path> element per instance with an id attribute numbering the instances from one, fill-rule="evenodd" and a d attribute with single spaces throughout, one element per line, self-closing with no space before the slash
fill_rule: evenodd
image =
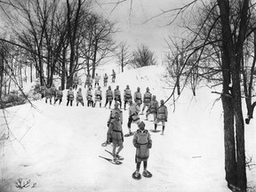
<path id="1" fill-rule="evenodd" d="M 128 130 L 129 134 L 132 134 L 131 125 L 132 123 L 139 124 L 140 123 L 140 106 L 137 103 L 132 103 L 132 100 L 129 100 L 129 118 L 128 118 Z"/>

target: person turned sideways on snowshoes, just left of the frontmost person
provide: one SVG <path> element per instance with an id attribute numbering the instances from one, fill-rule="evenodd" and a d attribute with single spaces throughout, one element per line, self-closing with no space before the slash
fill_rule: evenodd
<path id="1" fill-rule="evenodd" d="M 115 112 L 114 118 L 110 121 L 108 127 L 108 141 L 113 143 L 113 160 L 116 161 L 120 158 L 119 153 L 124 148 L 124 134 L 122 130 L 121 118 L 119 112 Z M 116 151 L 116 146 L 119 148 Z"/>

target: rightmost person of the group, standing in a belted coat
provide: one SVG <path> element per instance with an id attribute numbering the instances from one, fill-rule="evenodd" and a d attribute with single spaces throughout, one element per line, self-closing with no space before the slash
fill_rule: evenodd
<path id="1" fill-rule="evenodd" d="M 156 127 L 159 122 L 162 123 L 162 135 L 164 135 L 164 127 L 165 127 L 165 122 L 167 122 L 168 118 L 168 110 L 167 107 L 164 105 L 164 100 L 160 100 L 160 107 L 157 109 L 156 113 L 156 121 L 155 121 L 155 132 L 156 132 Z"/>

